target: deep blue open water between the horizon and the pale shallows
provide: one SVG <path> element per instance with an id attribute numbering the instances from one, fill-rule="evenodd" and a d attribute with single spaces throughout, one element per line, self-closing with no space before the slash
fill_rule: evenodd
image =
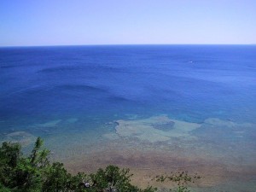
<path id="1" fill-rule="evenodd" d="M 14 124 L 75 113 L 256 122 L 255 46 L 1 48 L 0 67 L 0 120 Z"/>

